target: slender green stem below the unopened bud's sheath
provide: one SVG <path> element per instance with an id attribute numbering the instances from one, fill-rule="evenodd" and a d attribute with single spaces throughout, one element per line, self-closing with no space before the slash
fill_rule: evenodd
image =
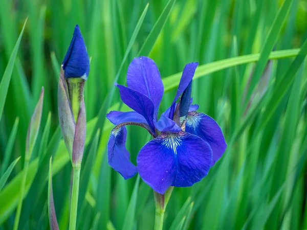
<path id="1" fill-rule="evenodd" d="M 71 213 L 69 221 L 69 230 L 76 229 L 77 222 L 77 210 L 78 210 L 78 196 L 79 196 L 79 182 L 80 182 L 80 167 L 73 167 L 73 189 L 72 189 L 72 200 L 71 200 Z"/>

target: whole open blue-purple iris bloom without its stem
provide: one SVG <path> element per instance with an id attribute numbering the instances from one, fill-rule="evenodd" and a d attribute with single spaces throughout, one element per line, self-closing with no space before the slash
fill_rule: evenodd
<path id="1" fill-rule="evenodd" d="M 206 114 L 196 112 L 198 105 L 191 104 L 197 66 L 196 62 L 185 66 L 177 94 L 159 120 L 164 87 L 153 60 L 135 58 L 128 67 L 128 87 L 116 84 L 122 101 L 134 110 L 111 111 L 106 116 L 116 125 L 107 144 L 108 163 L 125 179 L 139 172 L 153 190 L 164 194 L 170 186 L 189 187 L 200 181 L 225 152 L 221 128 Z M 146 128 L 153 136 L 140 150 L 137 166 L 130 162 L 125 147 L 125 125 L 131 124 Z"/>

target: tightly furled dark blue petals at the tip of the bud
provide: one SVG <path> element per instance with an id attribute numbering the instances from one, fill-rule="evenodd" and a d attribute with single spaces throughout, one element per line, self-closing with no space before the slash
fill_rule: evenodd
<path id="1" fill-rule="evenodd" d="M 65 78 L 82 77 L 87 79 L 90 72 L 90 58 L 79 26 L 74 30 L 73 38 L 62 62 Z"/>

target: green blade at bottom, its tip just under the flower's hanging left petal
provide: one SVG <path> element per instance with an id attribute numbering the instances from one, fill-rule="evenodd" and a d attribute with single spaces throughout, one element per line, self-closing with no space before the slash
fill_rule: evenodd
<path id="1" fill-rule="evenodd" d="M 133 229 L 134 222 L 135 222 L 135 213 L 136 213 L 139 184 L 140 184 L 140 175 L 138 175 L 138 177 L 137 177 L 135 187 L 134 187 L 132 195 L 131 195 L 128 210 L 127 210 L 127 213 L 126 213 L 126 216 L 125 216 L 125 221 L 124 221 L 124 224 L 123 224 L 123 227 L 122 227 L 123 230 Z"/>

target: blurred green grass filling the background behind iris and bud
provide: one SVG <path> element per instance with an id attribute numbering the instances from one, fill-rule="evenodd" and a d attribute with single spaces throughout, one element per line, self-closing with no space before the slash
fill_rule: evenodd
<path id="1" fill-rule="evenodd" d="M 138 55 L 159 66 L 166 91 L 161 111 L 170 105 L 184 65 L 199 61 L 194 102 L 220 124 L 228 143 L 207 177 L 191 188 L 174 189 L 165 229 L 307 228 L 306 18 L 306 0 L 2 1 L 0 177 L 21 158 L 0 188 L 0 229 L 12 229 L 27 128 L 41 86 L 42 122 L 19 228 L 49 228 L 51 155 L 57 218 L 60 229 L 68 228 L 71 164 L 61 141 L 56 98 L 60 62 L 76 24 L 92 58 L 85 88 L 79 229 L 153 228 L 151 189 L 137 176 L 125 181 L 105 155 L 113 127 L 105 113 L 111 106 L 128 109 L 119 103 L 113 83 L 125 84 L 127 66 Z M 141 128 L 128 128 L 134 163 L 148 140 Z"/>

